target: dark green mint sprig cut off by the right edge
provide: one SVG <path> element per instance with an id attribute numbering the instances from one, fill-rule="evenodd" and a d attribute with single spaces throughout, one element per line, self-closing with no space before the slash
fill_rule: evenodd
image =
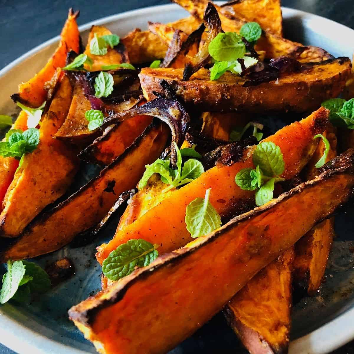
<path id="1" fill-rule="evenodd" d="M 331 98 L 322 102 L 321 106 L 331 111 L 329 119 L 334 126 L 354 129 L 354 98 L 348 101 L 342 98 Z"/>

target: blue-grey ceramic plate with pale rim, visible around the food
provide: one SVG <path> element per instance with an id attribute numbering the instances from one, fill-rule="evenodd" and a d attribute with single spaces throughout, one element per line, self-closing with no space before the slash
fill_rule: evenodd
<path id="1" fill-rule="evenodd" d="M 147 28 L 147 21 L 170 22 L 188 14 L 177 5 L 163 5 L 143 8 L 109 16 L 80 27 L 86 42 L 92 24 L 105 25 L 120 36 L 140 27 Z M 286 38 L 324 48 L 334 56 L 351 57 L 354 52 L 354 30 L 328 19 L 309 13 L 283 8 Z M 340 34 L 340 35 L 339 35 Z M 0 72 L 0 112 L 14 113 L 15 105 L 10 94 L 17 91 L 19 82 L 26 81 L 38 72 L 54 51 L 59 37 L 56 37 L 16 61 Z M 269 120 L 273 130 L 280 126 Z M 284 123 L 279 122 L 279 125 Z M 97 171 L 96 171 L 97 172 Z M 95 173 L 85 169 L 82 181 Z M 306 212 L 304 210 L 304 212 Z M 291 354 L 324 354 L 342 346 L 354 338 L 354 207 L 346 206 L 336 217 L 338 235 L 329 265 L 326 282 L 318 296 L 303 298 L 293 310 L 291 332 Z M 100 287 L 100 268 L 95 261 L 95 247 L 112 238 L 115 225 L 111 225 L 104 238 L 78 249 L 65 247 L 47 256 L 36 258 L 36 262 L 47 262 L 63 256 L 75 264 L 75 275 L 70 280 L 34 301 L 21 307 L 5 304 L 0 307 L 0 342 L 20 354 L 79 354 L 95 353 L 76 327 L 68 320 L 67 310 Z M 2 267 L 2 266 L 0 266 Z M 4 271 L 3 269 L 0 269 Z M 221 314 L 186 339 L 170 354 L 189 353 L 242 353 L 242 349 Z"/>

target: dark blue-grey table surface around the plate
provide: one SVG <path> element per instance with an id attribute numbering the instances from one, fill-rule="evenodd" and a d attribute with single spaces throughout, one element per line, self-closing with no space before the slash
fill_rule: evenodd
<path id="1" fill-rule="evenodd" d="M 327 17 L 354 29 L 352 1 L 282 0 L 282 5 Z M 58 35 L 69 7 L 82 10 L 78 19 L 81 25 L 114 13 L 168 3 L 169 0 L 0 0 L 0 69 L 33 47 Z M 0 344 L 0 354 L 14 352 Z M 354 341 L 333 354 L 354 354 Z"/>

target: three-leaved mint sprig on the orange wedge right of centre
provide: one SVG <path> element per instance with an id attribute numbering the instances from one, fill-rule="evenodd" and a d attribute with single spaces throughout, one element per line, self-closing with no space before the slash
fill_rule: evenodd
<path id="1" fill-rule="evenodd" d="M 243 190 L 256 190 L 256 205 L 261 206 L 273 199 L 274 183 L 284 181 L 280 175 L 285 164 L 279 146 L 273 142 L 259 143 L 252 160 L 256 169 L 242 169 L 235 176 L 235 182 Z"/>

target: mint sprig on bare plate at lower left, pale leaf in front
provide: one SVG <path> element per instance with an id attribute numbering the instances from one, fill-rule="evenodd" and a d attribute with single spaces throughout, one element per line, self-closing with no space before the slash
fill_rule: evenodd
<path id="1" fill-rule="evenodd" d="M 10 299 L 28 302 L 31 293 L 44 293 L 50 289 L 48 274 L 37 264 L 27 261 L 7 261 L 7 272 L 2 278 L 0 303 Z"/>

